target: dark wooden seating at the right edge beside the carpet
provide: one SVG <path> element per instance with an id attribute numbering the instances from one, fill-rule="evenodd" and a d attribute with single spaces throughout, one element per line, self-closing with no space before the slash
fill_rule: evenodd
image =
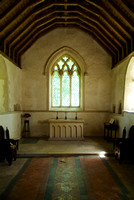
<path id="1" fill-rule="evenodd" d="M 120 163 L 127 159 L 134 162 L 134 126 L 131 126 L 129 130 L 128 138 L 125 138 L 125 130 L 123 130 L 123 136 L 119 140 L 115 141 L 114 154 L 115 158 Z"/>

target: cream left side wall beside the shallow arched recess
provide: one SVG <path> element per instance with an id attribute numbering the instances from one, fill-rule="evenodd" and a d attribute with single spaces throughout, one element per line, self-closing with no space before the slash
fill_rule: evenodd
<path id="1" fill-rule="evenodd" d="M 6 129 L 9 128 L 10 136 L 12 138 L 21 137 L 21 112 L 15 111 L 16 104 L 17 108 L 21 106 L 21 70 L 9 61 L 6 57 L 0 54 L 1 66 L 6 68 L 7 73 L 7 101 L 8 106 L 6 109 L 0 111 L 0 125 Z"/>

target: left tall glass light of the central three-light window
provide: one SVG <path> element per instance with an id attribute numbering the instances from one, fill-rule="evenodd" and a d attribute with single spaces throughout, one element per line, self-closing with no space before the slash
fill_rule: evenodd
<path id="1" fill-rule="evenodd" d="M 60 77 L 54 72 L 52 78 L 52 106 L 60 106 Z"/>

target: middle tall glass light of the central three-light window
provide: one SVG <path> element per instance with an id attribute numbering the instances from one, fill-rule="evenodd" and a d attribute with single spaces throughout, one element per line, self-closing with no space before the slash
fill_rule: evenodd
<path id="1" fill-rule="evenodd" d="M 62 106 L 70 105 L 70 76 L 64 72 L 62 76 Z"/>

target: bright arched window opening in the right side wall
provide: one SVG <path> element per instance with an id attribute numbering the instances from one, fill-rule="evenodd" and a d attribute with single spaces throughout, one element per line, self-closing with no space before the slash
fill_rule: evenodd
<path id="1" fill-rule="evenodd" d="M 134 56 L 131 57 L 126 72 L 124 111 L 134 112 Z"/>

